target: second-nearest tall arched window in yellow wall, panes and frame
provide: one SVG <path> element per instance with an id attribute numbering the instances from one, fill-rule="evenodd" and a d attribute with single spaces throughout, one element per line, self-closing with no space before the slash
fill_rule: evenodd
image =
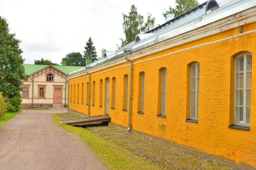
<path id="1" fill-rule="evenodd" d="M 190 119 L 198 120 L 200 64 L 191 66 L 190 71 Z"/>

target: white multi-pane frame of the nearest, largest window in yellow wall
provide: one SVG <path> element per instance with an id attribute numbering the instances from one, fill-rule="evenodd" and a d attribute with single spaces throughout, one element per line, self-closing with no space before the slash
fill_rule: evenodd
<path id="1" fill-rule="evenodd" d="M 247 90 L 251 90 L 251 88 L 247 88 L 247 73 L 248 72 L 250 72 L 250 73 L 252 73 L 252 70 L 250 70 L 250 71 L 247 71 L 247 55 L 251 55 L 252 56 L 252 54 L 251 53 L 245 53 L 245 54 L 241 54 L 241 55 L 239 55 L 238 57 L 236 57 L 235 58 L 235 91 L 234 91 L 234 93 L 235 93 L 235 99 L 234 99 L 234 101 L 235 101 L 235 108 L 234 108 L 234 124 L 235 125 L 242 125 L 242 126 L 248 126 L 248 127 L 250 127 L 250 124 L 247 124 L 246 123 L 246 108 L 251 108 L 251 103 L 250 103 L 250 106 L 247 106 L 247 101 L 246 101 L 246 99 L 247 99 Z M 239 58 L 241 58 L 241 57 L 244 57 L 244 71 L 237 71 L 237 68 L 236 68 L 236 65 L 237 65 L 237 59 L 239 59 Z M 252 58 L 251 58 L 251 62 L 252 62 Z M 252 67 L 252 63 L 251 63 L 251 67 Z M 237 88 L 236 87 L 236 85 L 237 85 L 237 83 L 236 83 L 236 81 L 237 81 L 237 79 L 236 79 L 236 74 L 237 73 L 243 73 L 243 88 Z M 252 75 L 252 74 L 251 74 Z M 252 79 L 252 77 L 251 77 L 251 79 Z M 250 85 L 251 85 L 251 82 L 252 82 L 252 80 L 250 79 Z M 237 93 L 236 93 L 236 90 L 243 90 L 244 91 L 244 93 L 243 93 L 243 122 L 236 122 L 236 107 L 241 107 L 241 105 L 236 105 L 236 95 L 237 95 Z M 251 96 L 250 96 L 251 97 Z M 250 99 L 251 100 L 251 99 Z M 250 113 L 251 113 L 251 110 L 250 110 Z"/>

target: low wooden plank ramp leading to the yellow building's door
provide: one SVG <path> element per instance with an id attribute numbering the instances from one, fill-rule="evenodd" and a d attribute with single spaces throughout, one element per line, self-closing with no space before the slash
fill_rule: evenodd
<path id="1" fill-rule="evenodd" d="M 108 116 L 90 116 L 90 117 L 81 117 L 74 119 L 64 119 L 60 120 L 61 124 L 66 125 L 90 125 L 102 122 L 110 122 L 111 118 Z"/>

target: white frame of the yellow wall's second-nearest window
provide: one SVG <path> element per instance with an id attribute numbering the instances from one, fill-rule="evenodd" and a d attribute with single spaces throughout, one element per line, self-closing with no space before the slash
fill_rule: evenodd
<path id="1" fill-rule="evenodd" d="M 195 65 L 195 77 L 192 77 L 192 67 Z M 199 73 L 200 73 L 200 63 L 197 62 L 191 65 L 190 68 L 190 119 L 198 120 L 198 102 L 199 102 L 199 82 L 200 82 L 200 74 L 198 75 L 198 65 L 199 65 Z M 192 78 L 195 78 L 195 90 L 191 90 L 192 88 Z M 199 82 L 198 82 L 199 78 Z M 195 117 L 192 117 L 192 91 L 195 92 Z"/>

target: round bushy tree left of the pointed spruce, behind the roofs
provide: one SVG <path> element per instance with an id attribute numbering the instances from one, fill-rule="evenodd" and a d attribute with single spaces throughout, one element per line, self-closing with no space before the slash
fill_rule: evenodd
<path id="1" fill-rule="evenodd" d="M 66 60 L 66 65 L 81 66 L 81 62 L 83 61 L 83 56 L 80 52 L 72 52 L 70 54 L 67 54 L 66 57 L 63 59 Z M 85 65 L 82 65 L 82 66 L 85 66 Z"/>

